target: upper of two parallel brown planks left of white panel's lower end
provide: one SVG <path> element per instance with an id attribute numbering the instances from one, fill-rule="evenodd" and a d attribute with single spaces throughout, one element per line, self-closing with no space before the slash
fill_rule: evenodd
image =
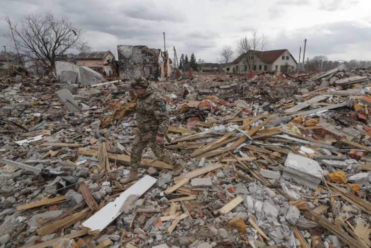
<path id="1" fill-rule="evenodd" d="M 58 220 L 58 221 L 55 221 L 51 224 L 43 226 L 43 227 L 37 229 L 36 232 L 39 236 L 44 236 L 46 234 L 54 233 L 59 229 L 69 227 L 69 226 L 75 224 L 76 222 L 86 218 L 88 216 L 88 214 L 90 213 L 90 211 L 91 211 L 90 208 L 87 207 L 87 208 L 81 210 L 80 212 L 72 214 L 71 216 L 65 217 L 61 220 Z"/>

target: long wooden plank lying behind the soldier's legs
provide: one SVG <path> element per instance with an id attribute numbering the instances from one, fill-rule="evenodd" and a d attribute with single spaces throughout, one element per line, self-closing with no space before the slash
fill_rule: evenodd
<path id="1" fill-rule="evenodd" d="M 98 153 L 97 150 L 94 149 L 87 149 L 87 148 L 79 148 L 78 153 L 81 155 L 87 156 L 95 156 Z M 108 159 L 111 162 L 117 162 L 122 165 L 131 165 L 130 156 L 123 155 L 123 154 L 115 154 L 107 152 Z M 165 162 L 156 161 L 156 160 L 149 160 L 149 159 L 142 159 L 140 162 L 141 167 L 157 167 L 157 168 L 165 168 L 165 169 L 173 169 L 173 165 L 166 164 Z"/>

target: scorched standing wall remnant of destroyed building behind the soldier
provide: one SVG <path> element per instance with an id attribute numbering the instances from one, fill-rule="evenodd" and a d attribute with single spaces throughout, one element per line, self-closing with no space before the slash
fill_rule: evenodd
<path id="1" fill-rule="evenodd" d="M 136 76 L 168 78 L 171 76 L 169 53 L 145 45 L 118 45 L 119 77 Z"/>

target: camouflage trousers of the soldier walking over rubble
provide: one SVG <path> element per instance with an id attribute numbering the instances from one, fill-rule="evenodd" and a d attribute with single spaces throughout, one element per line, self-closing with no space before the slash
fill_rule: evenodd
<path id="1" fill-rule="evenodd" d="M 141 155 L 143 149 L 148 145 L 156 156 L 157 160 L 165 162 L 169 165 L 174 165 L 174 168 L 178 168 L 182 164 L 165 149 L 164 142 L 156 142 L 157 132 L 145 132 L 142 133 L 138 130 L 137 135 L 134 138 L 130 161 L 133 167 L 138 168 L 140 165 Z"/>

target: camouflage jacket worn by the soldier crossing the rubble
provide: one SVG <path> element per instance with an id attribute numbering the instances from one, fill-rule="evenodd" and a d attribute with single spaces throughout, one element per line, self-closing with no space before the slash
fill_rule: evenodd
<path id="1" fill-rule="evenodd" d="M 157 131 L 158 136 L 165 136 L 170 121 L 166 104 L 156 84 L 150 83 L 137 100 L 137 126 L 141 132 Z"/>

